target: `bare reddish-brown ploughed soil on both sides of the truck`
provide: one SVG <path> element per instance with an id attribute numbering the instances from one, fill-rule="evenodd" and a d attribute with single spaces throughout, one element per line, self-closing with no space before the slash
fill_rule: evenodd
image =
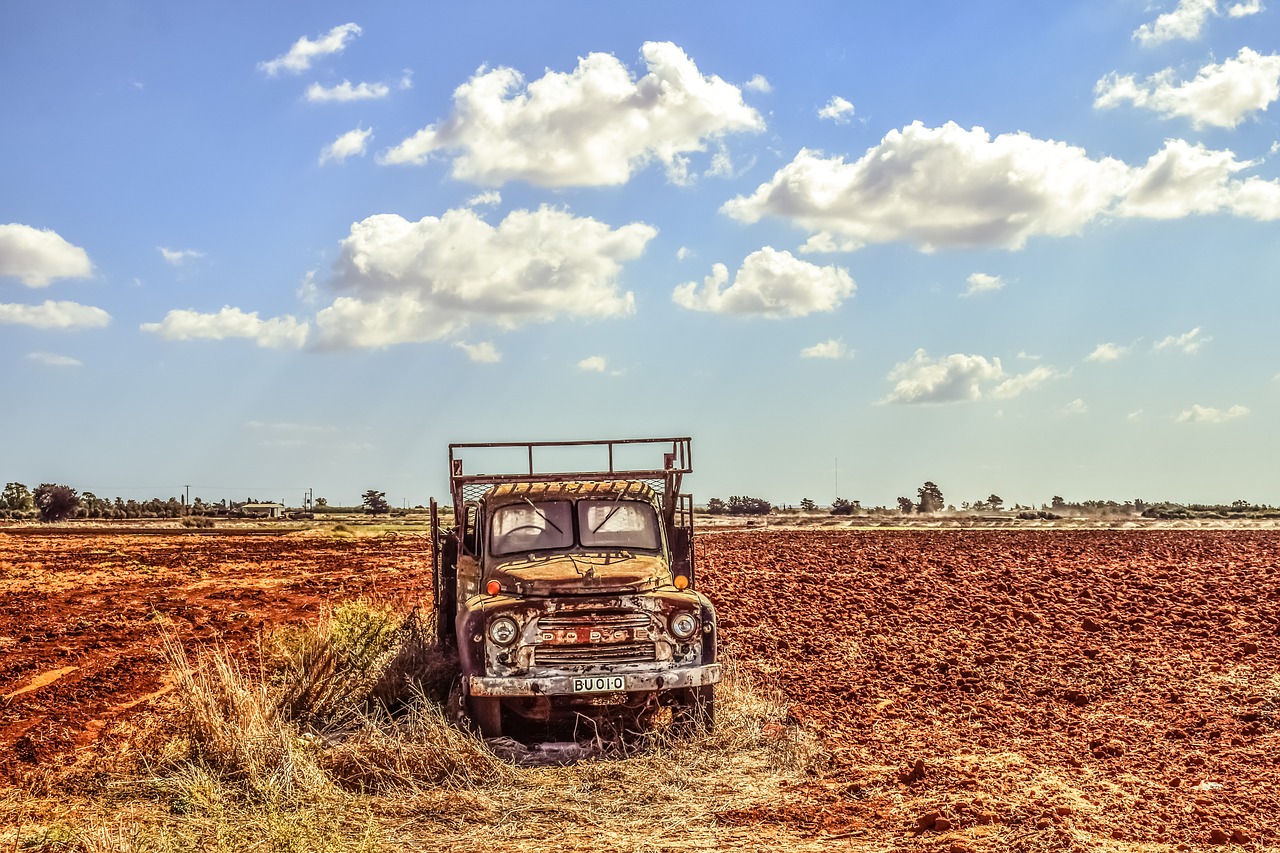
<path id="1" fill-rule="evenodd" d="M 829 845 L 1280 845 L 1280 533 L 699 537 L 726 652 L 826 772 L 722 825 Z M 165 689 L 159 630 L 252 653 L 355 597 L 426 603 L 415 535 L 0 533 L 0 784 Z"/>

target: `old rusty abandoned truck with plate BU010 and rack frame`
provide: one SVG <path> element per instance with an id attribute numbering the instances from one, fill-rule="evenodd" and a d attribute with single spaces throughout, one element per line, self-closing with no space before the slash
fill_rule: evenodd
<path id="1" fill-rule="evenodd" d="M 508 470 L 471 470 L 486 455 Z M 431 526 L 456 720 L 486 738 L 712 725 L 721 665 L 680 491 L 691 471 L 689 438 L 449 444 L 453 524 L 433 501 Z"/>

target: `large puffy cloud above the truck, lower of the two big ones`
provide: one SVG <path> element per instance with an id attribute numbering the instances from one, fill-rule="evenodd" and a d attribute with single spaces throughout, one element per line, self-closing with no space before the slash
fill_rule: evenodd
<path id="1" fill-rule="evenodd" d="M 385 347 L 472 323 L 623 316 L 635 296 L 618 291 L 622 264 L 655 234 L 644 223 L 611 228 L 547 206 L 513 210 L 497 227 L 467 207 L 419 222 L 370 216 L 342 241 L 333 286 L 344 295 L 316 315 L 316 343 Z"/>

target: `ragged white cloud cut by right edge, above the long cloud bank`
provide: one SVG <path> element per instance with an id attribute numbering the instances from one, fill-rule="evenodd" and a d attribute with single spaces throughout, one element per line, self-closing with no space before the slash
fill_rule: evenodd
<path id="1" fill-rule="evenodd" d="M 1230 128 L 1280 99 L 1280 56 L 1242 47 L 1235 59 L 1204 65 L 1194 79 L 1183 83 L 1174 82 L 1172 68 L 1142 83 L 1132 74 L 1112 72 L 1098 81 L 1093 92 L 1098 109 L 1128 102 L 1165 118 L 1188 118 L 1196 128 Z"/>

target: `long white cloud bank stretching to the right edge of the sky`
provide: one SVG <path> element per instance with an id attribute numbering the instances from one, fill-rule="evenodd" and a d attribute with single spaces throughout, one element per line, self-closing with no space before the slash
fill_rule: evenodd
<path id="1" fill-rule="evenodd" d="M 1253 164 L 1170 140 L 1142 167 L 1089 159 L 1027 133 L 992 138 L 948 122 L 891 131 L 855 163 L 801 150 L 749 196 L 722 206 L 746 223 L 781 216 L 814 232 L 808 251 L 909 242 L 1021 248 L 1079 233 L 1098 216 L 1233 213 L 1280 218 L 1280 182 L 1233 175 Z"/>

